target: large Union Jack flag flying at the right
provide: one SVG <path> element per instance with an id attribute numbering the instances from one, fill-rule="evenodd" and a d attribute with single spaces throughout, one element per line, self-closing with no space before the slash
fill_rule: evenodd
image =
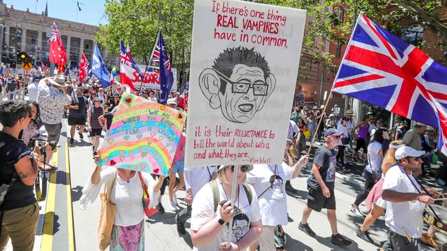
<path id="1" fill-rule="evenodd" d="M 447 68 L 360 14 L 333 90 L 439 128 L 447 154 Z"/>

